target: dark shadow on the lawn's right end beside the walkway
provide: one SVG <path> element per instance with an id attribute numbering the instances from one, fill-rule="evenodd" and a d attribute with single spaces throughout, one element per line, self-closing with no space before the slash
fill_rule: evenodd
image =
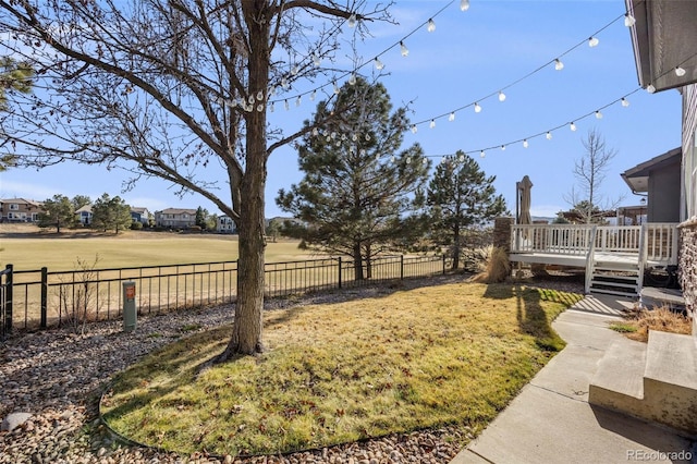
<path id="1" fill-rule="evenodd" d="M 494 283 L 487 285 L 486 298 L 515 298 L 516 320 L 523 333 L 535 338 L 535 343 L 545 351 L 561 351 L 565 343 L 552 329 L 551 321 L 560 312 L 542 308 L 541 302 L 563 305 L 564 309 L 583 298 L 583 295 L 549 289 L 530 289 L 519 283 Z"/>

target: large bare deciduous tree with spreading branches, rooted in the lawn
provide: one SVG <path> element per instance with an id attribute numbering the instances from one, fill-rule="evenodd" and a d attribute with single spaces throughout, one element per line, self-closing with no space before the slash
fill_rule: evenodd
<path id="1" fill-rule="evenodd" d="M 329 66 L 342 26 L 357 21 L 354 35 L 364 34 L 367 21 L 389 21 L 387 8 L 364 0 L 0 0 L 0 34 L 11 37 L 0 53 L 22 56 L 41 87 L 4 121 L 0 134 L 12 144 L 2 146 L 16 144 L 24 164 L 74 160 L 126 169 L 131 182 L 161 178 L 233 218 L 237 304 L 219 361 L 260 352 L 267 162 L 314 129 L 272 131 L 268 108 L 297 95 L 301 78 L 341 77 Z M 211 167 L 225 172 L 224 185 L 209 180 Z"/>

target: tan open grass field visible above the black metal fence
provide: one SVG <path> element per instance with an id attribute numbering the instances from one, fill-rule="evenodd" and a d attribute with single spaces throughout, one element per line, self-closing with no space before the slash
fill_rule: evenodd
<path id="1" fill-rule="evenodd" d="M 121 235 L 83 236 L 76 234 L 26 234 L 22 237 L 0 236 L 0 267 L 14 265 L 15 270 L 50 271 L 76 268 L 77 259 L 89 264 L 99 256 L 98 268 L 157 266 L 209 262 L 237 259 L 234 235 L 182 235 L 167 232 L 126 232 Z M 307 259 L 297 242 L 269 243 L 268 262 Z"/>

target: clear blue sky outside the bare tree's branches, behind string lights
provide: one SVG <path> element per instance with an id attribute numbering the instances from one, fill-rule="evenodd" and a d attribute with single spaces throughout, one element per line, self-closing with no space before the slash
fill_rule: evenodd
<path id="1" fill-rule="evenodd" d="M 363 61 L 372 60 L 398 44 L 448 3 L 398 1 L 391 12 L 400 24 L 370 25 L 372 37 L 358 45 Z M 404 40 L 409 50 L 407 57 L 400 54 L 399 47 L 380 54 L 387 73 L 381 82 L 393 105 L 411 101 L 412 122 L 425 121 L 416 134 L 405 134 L 403 148 L 420 144 L 435 164 L 441 156 L 458 149 L 470 154 L 488 175 L 496 175 L 494 186 L 511 211 L 515 211 L 516 181 L 529 175 L 534 184 L 533 216 L 549 217 L 570 208 L 565 197 L 576 184 L 574 161 L 584 155 L 582 141 L 595 129 L 607 146 L 617 151 L 601 185 L 601 195 L 608 202 L 624 196 L 622 205 L 638 205 L 639 198 L 632 195 L 620 173 L 680 146 L 681 98 L 676 90 L 633 93 L 638 83 L 629 29 L 619 19 L 624 14 L 624 1 L 472 0 L 466 12 L 460 10 L 458 3 L 453 2 L 433 17 L 435 32 L 427 32 L 424 25 Z M 568 51 L 603 27 L 596 35 L 597 47 L 584 42 Z M 345 69 L 350 69 L 348 60 L 343 58 L 347 53 L 348 47 L 339 52 L 339 62 Z M 533 73 L 557 57 L 564 63 L 563 70 L 555 71 L 549 64 Z M 360 71 L 374 72 L 371 65 Z M 506 98 L 500 102 L 497 94 L 504 87 Z M 295 106 L 294 96 L 307 88 L 313 86 L 289 90 L 290 110 L 277 105 L 270 122 L 286 131 L 298 129 L 316 105 L 305 96 L 302 105 Z M 602 119 L 592 114 L 631 93 L 628 107 L 616 102 L 602 110 Z M 480 112 L 474 111 L 474 102 L 479 102 Z M 449 121 L 448 114 L 460 108 L 463 109 L 455 111 L 454 121 Z M 429 129 L 429 121 L 441 114 L 445 117 Z M 572 121 L 576 132 L 568 129 Z M 545 132 L 560 125 L 563 126 L 547 139 Z M 487 150 L 485 158 L 480 157 L 482 148 L 524 138 L 529 138 L 528 148 L 518 142 L 505 150 Z M 282 216 L 274 203 L 279 188 L 289 188 L 302 179 L 295 151 L 291 147 L 277 150 L 268 171 L 266 216 Z M 220 173 L 211 170 L 206 175 L 215 178 Z M 0 197 L 41 200 L 60 193 L 95 199 L 106 192 L 152 211 L 203 206 L 218 212 L 200 196 L 179 198 L 175 186 L 158 180 L 142 181 L 131 192 L 122 193 L 126 179 L 127 173 L 119 170 L 76 163 L 39 171 L 12 169 L 0 174 Z"/>

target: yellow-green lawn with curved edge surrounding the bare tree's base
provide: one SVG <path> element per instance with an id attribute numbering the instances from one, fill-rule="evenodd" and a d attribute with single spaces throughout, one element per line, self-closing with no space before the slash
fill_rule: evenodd
<path id="1" fill-rule="evenodd" d="M 192 453 L 280 453 L 443 425 L 478 431 L 563 347 L 550 321 L 580 295 L 448 284 L 268 313 L 269 351 L 199 371 L 230 327 L 117 376 L 105 419 Z"/>

